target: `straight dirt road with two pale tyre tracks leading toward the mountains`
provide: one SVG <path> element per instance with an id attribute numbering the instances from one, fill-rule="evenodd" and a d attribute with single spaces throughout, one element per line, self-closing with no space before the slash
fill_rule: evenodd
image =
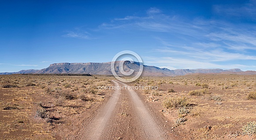
<path id="1" fill-rule="evenodd" d="M 115 86 L 128 86 L 112 81 Z M 158 120 L 134 90 L 115 90 L 86 126 L 83 140 L 162 140 Z"/>

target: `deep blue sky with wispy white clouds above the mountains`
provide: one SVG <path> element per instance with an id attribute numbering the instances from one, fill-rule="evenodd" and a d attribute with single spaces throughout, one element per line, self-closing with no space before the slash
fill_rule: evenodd
<path id="1" fill-rule="evenodd" d="M 108 62 L 256 70 L 256 0 L 0 1 L 0 72 Z"/>

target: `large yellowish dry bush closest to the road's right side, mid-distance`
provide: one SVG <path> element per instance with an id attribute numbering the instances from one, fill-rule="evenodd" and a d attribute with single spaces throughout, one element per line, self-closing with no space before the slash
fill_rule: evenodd
<path id="1" fill-rule="evenodd" d="M 187 97 L 169 97 L 166 98 L 162 105 L 164 108 L 182 108 L 188 106 Z"/>

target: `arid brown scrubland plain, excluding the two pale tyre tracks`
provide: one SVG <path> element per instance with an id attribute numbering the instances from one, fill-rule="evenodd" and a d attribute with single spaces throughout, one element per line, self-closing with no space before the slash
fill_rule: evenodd
<path id="1" fill-rule="evenodd" d="M 164 139 L 256 138 L 256 75 L 141 77 L 128 85 L 158 86 L 134 90 L 144 112 L 136 112 L 130 91 L 98 89 L 115 83 L 113 76 L 106 75 L 0 75 L 0 139 L 86 140 L 93 120 L 115 92 L 120 97 L 102 139 L 147 138 L 136 118 L 145 112 Z"/>

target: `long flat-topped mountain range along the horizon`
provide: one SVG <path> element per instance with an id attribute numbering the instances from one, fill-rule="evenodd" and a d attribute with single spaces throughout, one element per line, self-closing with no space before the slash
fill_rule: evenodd
<path id="1" fill-rule="evenodd" d="M 119 62 L 119 61 L 117 61 Z M 124 71 L 128 72 L 130 69 L 134 69 L 134 75 L 139 71 L 140 63 L 130 61 L 123 61 Z M 143 65 L 143 76 L 175 76 L 186 75 L 193 73 L 232 73 L 232 74 L 256 74 L 255 71 L 243 72 L 238 68 L 223 70 L 223 69 L 175 69 L 170 70 L 168 68 L 159 68 L 156 66 Z M 119 72 L 118 66 L 115 67 L 115 71 L 118 75 L 122 75 Z M 21 70 L 19 72 L 3 72 L 0 75 L 8 74 L 93 74 L 93 75 L 112 75 L 111 62 L 105 63 L 54 63 L 48 68 L 41 70 Z"/>

